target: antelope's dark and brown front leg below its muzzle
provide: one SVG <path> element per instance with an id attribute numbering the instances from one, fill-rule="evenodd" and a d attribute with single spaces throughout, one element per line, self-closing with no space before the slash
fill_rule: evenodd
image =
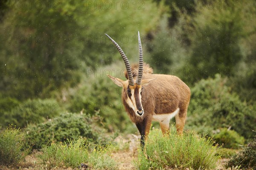
<path id="1" fill-rule="evenodd" d="M 152 122 L 152 118 L 151 117 L 146 117 L 145 119 L 143 119 L 142 122 L 136 123 L 136 126 L 138 128 L 138 130 L 140 131 L 140 135 L 141 135 L 141 139 L 140 139 L 140 146 L 142 147 L 142 149 L 145 146 L 145 142 L 148 138 L 148 133 L 151 127 L 151 122 Z"/>

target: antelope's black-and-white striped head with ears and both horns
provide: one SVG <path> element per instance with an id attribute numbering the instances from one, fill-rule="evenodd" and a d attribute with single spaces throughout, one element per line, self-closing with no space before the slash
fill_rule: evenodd
<path id="1" fill-rule="evenodd" d="M 143 116 L 144 110 L 143 106 L 141 104 L 141 96 L 142 96 L 142 88 L 145 85 L 148 85 L 149 82 L 151 82 L 154 79 L 143 79 L 143 51 L 142 51 L 142 45 L 140 40 L 140 32 L 138 32 L 138 42 L 139 42 L 139 70 L 138 70 L 138 76 L 136 79 L 136 82 L 134 83 L 134 77 L 131 71 L 131 66 L 128 61 L 128 58 L 126 57 L 125 53 L 122 51 L 122 48 L 107 34 L 105 34 L 116 46 L 117 50 L 122 56 L 122 59 L 125 62 L 125 67 L 128 75 L 128 80 L 123 81 L 122 79 L 112 77 L 108 75 L 108 77 L 118 86 L 123 88 L 123 95 L 127 96 L 126 103 L 134 110 L 134 113 L 137 116 Z"/>

